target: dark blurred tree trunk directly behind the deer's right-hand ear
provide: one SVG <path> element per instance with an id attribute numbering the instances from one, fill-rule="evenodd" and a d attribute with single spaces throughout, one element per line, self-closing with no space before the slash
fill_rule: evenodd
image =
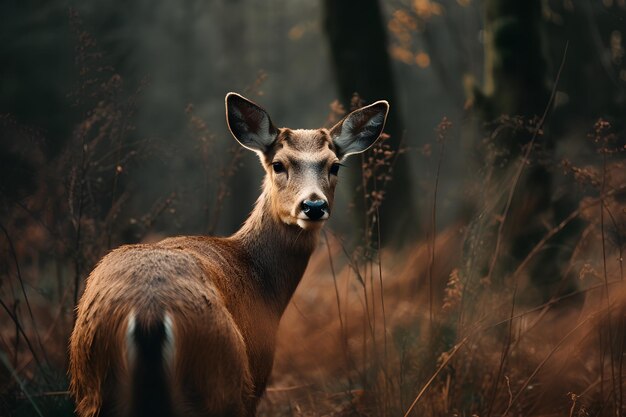
<path id="1" fill-rule="evenodd" d="M 389 144 L 398 150 L 403 136 L 399 103 L 387 52 L 387 34 L 377 0 L 324 1 L 324 23 L 330 43 L 332 62 L 340 101 L 350 108 L 354 93 L 367 102 L 385 99 L 391 104 L 385 131 Z M 401 245 L 419 231 L 418 213 L 413 201 L 413 183 L 408 159 L 400 155 L 393 167 L 385 201 L 381 206 L 383 244 Z M 355 186 L 360 176 L 352 178 Z M 356 215 L 363 218 L 364 207 L 355 199 Z M 359 204 L 361 203 L 361 204 Z"/>

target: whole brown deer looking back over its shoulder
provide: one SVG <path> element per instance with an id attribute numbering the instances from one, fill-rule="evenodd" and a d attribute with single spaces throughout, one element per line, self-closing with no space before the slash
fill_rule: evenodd
<path id="1" fill-rule="evenodd" d="M 256 415 L 341 163 L 377 141 L 389 111 L 381 100 L 330 129 L 289 129 L 239 94 L 225 104 L 231 134 L 265 170 L 261 195 L 230 237 L 124 245 L 95 266 L 70 339 L 80 417 Z"/>

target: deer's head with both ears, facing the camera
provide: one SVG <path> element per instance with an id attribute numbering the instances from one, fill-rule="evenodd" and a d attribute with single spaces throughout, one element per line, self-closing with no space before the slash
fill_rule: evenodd
<path id="1" fill-rule="evenodd" d="M 385 126 L 386 101 L 353 111 L 330 130 L 276 128 L 269 114 L 239 94 L 226 95 L 226 119 L 237 141 L 266 171 L 272 214 L 316 230 L 328 219 L 341 162 L 371 147 Z"/>

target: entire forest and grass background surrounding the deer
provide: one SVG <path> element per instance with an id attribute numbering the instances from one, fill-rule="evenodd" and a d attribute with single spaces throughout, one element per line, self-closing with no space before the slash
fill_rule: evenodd
<path id="1" fill-rule="evenodd" d="M 277 125 L 386 99 L 262 415 L 626 412 L 624 0 L 0 3 L 0 415 L 72 415 L 111 248 L 235 231 L 237 91 Z M 293 343 L 297 340 L 298 343 Z"/>

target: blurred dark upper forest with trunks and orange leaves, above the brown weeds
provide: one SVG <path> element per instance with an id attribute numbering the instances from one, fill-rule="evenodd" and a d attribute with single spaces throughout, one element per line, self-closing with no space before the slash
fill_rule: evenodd
<path id="1" fill-rule="evenodd" d="M 101 82 L 116 75 L 120 94 L 140 90 L 132 136 L 153 140 L 168 150 L 167 158 L 142 155 L 124 175 L 141 190 L 132 201 L 143 206 L 139 212 L 164 190 L 176 191 L 185 202 L 179 208 L 185 210 L 178 219 L 183 224 L 159 221 L 157 229 L 169 233 L 197 232 L 206 222 L 198 211 L 205 202 L 197 199 L 207 191 L 208 179 L 199 169 L 190 109 L 210 131 L 211 157 L 225 155 L 231 141 L 222 97 L 230 90 L 248 91 L 278 124 L 292 127 L 323 125 L 329 104 L 339 100 L 349 108 L 354 92 L 364 102 L 390 100 L 392 144 L 402 142 L 409 152 L 399 158 L 390 185 L 386 209 L 397 211 L 387 225 L 393 229 L 399 219 L 410 226 L 402 229 L 411 230 L 411 237 L 424 230 L 425 221 L 418 220 L 425 209 L 420 182 L 434 171 L 418 150 L 433 141 L 439 120 L 445 115 L 455 126 L 450 140 L 455 149 L 441 171 L 440 219 L 449 221 L 461 206 L 458 179 L 473 169 L 468 160 L 480 140 L 477 124 L 503 114 L 541 115 L 566 42 L 570 47 L 551 118 L 557 137 L 551 140 L 566 148 L 567 138 L 589 130 L 598 117 L 617 130 L 624 119 L 621 0 L 7 0 L 0 7 L 0 110 L 42 133 L 46 158 L 62 152 L 91 110 L 76 100 L 90 78 Z M 73 23 L 70 8 L 79 16 Z M 84 47 L 82 31 L 95 44 L 91 73 L 76 58 Z M 2 178 L 8 181 L 3 189 L 32 191 L 32 167 L 18 161 L 19 151 L 12 149 L 17 145 L 3 136 Z M 225 201 L 220 233 L 238 226 L 257 194 L 248 175 L 260 171 L 250 163 L 253 157 L 242 158 L 246 163 L 232 179 L 236 197 Z"/>

